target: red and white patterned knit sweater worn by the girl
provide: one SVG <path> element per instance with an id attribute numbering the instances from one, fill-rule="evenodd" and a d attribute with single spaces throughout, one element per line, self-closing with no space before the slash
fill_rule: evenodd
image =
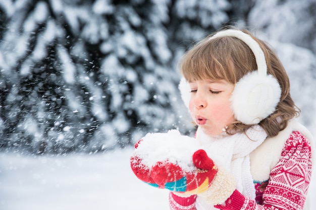
<path id="1" fill-rule="evenodd" d="M 278 164 L 266 182 L 254 183 L 255 200 L 238 190 L 216 208 L 223 210 L 300 210 L 303 209 L 312 171 L 311 146 L 308 139 L 293 131 L 284 145 Z M 169 194 L 171 210 L 196 210 L 196 195 L 179 197 Z"/>

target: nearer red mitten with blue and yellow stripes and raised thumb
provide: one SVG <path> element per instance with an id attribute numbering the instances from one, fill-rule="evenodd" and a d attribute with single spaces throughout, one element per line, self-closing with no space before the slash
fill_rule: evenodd
<path id="1" fill-rule="evenodd" d="M 150 169 L 150 177 L 159 188 L 188 194 L 204 192 L 212 184 L 218 169 L 204 150 L 196 151 L 192 161 L 194 170 L 186 170 L 168 160 L 157 162 Z"/>

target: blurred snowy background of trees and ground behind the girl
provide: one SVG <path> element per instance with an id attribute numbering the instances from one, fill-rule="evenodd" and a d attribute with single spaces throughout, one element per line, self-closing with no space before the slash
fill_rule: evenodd
<path id="1" fill-rule="evenodd" d="M 224 25 L 275 48 L 316 136 L 316 0 L 0 0 L 0 209 L 168 209 L 129 157 L 192 134 L 177 62 Z"/>

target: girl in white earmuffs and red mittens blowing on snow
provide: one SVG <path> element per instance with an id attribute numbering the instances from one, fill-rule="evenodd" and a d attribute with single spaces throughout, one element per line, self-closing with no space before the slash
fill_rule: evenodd
<path id="1" fill-rule="evenodd" d="M 141 168 L 143 157 L 131 158 L 136 176 L 171 190 L 172 210 L 307 209 L 313 139 L 295 121 L 289 79 L 271 48 L 247 30 L 224 29 L 190 49 L 180 69 L 203 149 L 193 154 L 195 177 L 207 173 L 207 184 L 177 162 Z M 164 184 L 179 174 L 187 178 L 182 187 L 193 181 L 203 190 L 170 187 L 178 178 Z"/>

